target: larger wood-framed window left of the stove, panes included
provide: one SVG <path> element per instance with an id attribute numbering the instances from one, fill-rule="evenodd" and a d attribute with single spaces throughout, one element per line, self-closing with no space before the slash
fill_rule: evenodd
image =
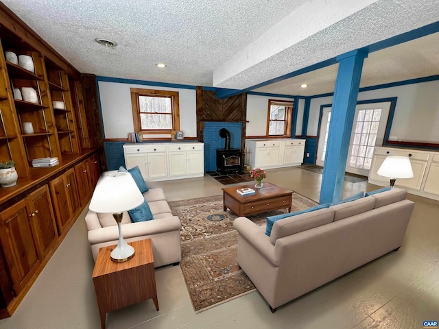
<path id="1" fill-rule="evenodd" d="M 141 134 L 171 134 L 180 130 L 178 92 L 131 88 L 134 131 Z"/>

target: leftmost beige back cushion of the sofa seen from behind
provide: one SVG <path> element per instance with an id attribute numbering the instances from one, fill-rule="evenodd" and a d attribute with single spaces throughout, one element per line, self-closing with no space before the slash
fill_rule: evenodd
<path id="1" fill-rule="evenodd" d="M 318 226 L 332 223 L 334 210 L 331 208 L 322 208 L 311 212 L 304 212 L 299 215 L 287 217 L 276 221 L 270 235 L 270 243 L 276 244 L 277 239 L 284 236 L 296 234 L 298 232 L 317 228 Z"/>

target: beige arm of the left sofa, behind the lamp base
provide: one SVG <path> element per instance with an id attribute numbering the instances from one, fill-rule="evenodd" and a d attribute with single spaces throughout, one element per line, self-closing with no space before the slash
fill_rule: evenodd
<path id="1" fill-rule="evenodd" d="M 124 224 L 121 226 L 121 231 L 123 237 L 129 239 L 136 236 L 176 231 L 180 230 L 180 228 L 180 219 L 176 216 L 170 216 L 161 219 L 153 219 L 152 221 Z M 106 228 L 98 228 L 88 231 L 88 241 L 92 245 L 107 241 L 117 241 L 117 239 L 119 239 L 119 230 L 117 226 L 108 226 Z"/>

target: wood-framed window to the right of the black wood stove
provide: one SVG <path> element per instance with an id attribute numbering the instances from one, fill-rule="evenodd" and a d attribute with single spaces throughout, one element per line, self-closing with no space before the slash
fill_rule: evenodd
<path id="1" fill-rule="evenodd" d="M 292 101 L 268 101 L 268 137 L 290 137 L 293 114 Z"/>

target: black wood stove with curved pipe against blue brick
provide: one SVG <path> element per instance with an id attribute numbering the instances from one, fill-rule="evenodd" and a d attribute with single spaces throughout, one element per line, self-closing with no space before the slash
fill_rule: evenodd
<path id="1" fill-rule="evenodd" d="M 217 171 L 226 175 L 241 172 L 241 149 L 230 149 L 230 132 L 226 128 L 219 130 L 219 136 L 226 138 L 224 149 L 217 149 Z"/>

